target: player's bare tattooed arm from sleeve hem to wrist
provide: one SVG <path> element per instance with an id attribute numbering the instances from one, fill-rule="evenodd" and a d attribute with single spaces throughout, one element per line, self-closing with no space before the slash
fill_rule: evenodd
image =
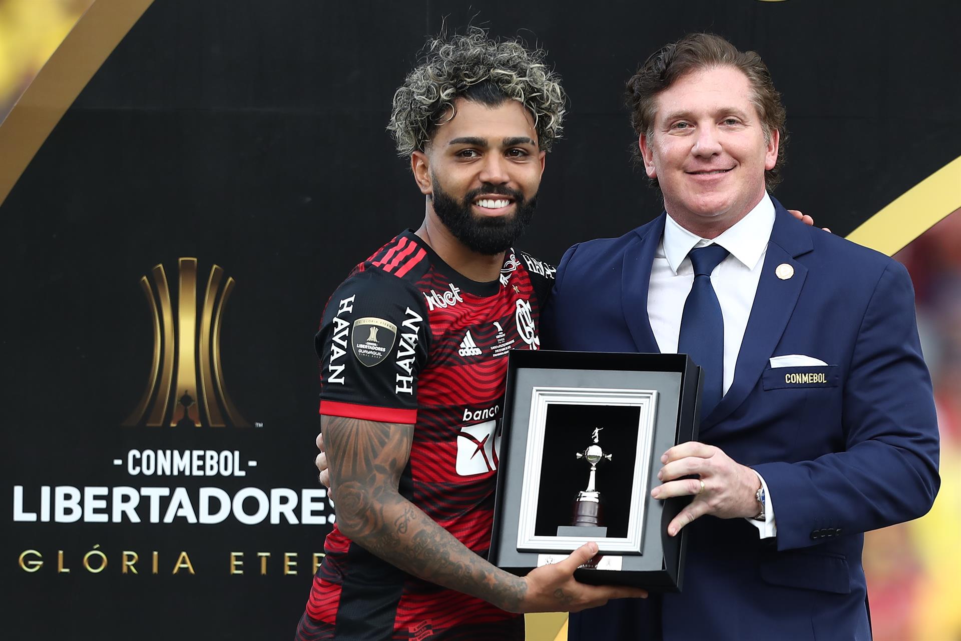
<path id="1" fill-rule="evenodd" d="M 321 419 L 337 527 L 401 570 L 517 611 L 527 582 L 468 550 L 397 491 L 413 426 L 353 418 Z"/>

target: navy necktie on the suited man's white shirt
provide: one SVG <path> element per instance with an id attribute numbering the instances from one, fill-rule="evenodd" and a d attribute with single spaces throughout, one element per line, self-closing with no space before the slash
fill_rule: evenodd
<path id="1" fill-rule="evenodd" d="M 702 367 L 703 419 L 721 402 L 724 389 L 724 316 L 711 285 L 711 272 L 727 258 L 727 249 L 708 245 L 692 249 L 688 256 L 694 265 L 694 284 L 680 317 L 678 353 L 690 355 Z"/>

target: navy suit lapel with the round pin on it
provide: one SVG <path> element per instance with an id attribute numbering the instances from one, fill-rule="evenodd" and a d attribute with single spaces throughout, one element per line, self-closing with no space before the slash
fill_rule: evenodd
<path id="1" fill-rule="evenodd" d="M 737 355 L 734 381 L 721 403 L 702 421 L 701 431 L 717 425 L 744 403 L 774 354 L 777 341 L 801 296 L 807 268 L 797 258 L 814 249 L 814 244 L 811 234 L 803 229 L 803 223 L 784 210 L 780 203 L 774 203 L 775 226 L 754 294 L 748 327 L 741 341 L 741 351 Z M 793 269 L 790 278 L 777 277 L 777 266 L 781 264 L 788 264 Z"/>

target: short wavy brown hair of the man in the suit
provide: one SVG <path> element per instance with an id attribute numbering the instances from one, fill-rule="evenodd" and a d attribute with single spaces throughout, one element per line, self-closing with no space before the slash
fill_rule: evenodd
<path id="1" fill-rule="evenodd" d="M 653 133 L 654 116 L 657 111 L 657 95 L 672 86 L 682 76 L 704 68 L 730 66 L 748 77 L 754 95 L 752 103 L 761 119 L 764 139 L 771 140 L 771 132 L 780 133 L 777 161 L 773 169 L 764 172 L 764 183 L 773 190 L 781 181 L 784 150 L 787 147 L 786 114 L 771 80 L 768 67 L 753 51 L 739 51 L 725 38 L 714 34 L 689 34 L 654 53 L 628 80 L 625 96 L 630 124 L 640 136 Z M 633 145 L 634 160 L 643 163 L 640 149 Z M 656 179 L 653 179 L 656 185 Z"/>

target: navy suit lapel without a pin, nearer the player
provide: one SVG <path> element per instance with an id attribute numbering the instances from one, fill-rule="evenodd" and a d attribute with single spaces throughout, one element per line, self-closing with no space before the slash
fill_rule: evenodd
<path id="1" fill-rule="evenodd" d="M 654 253 L 664 234 L 666 213 L 635 230 L 639 237 L 628 245 L 621 272 L 621 304 L 624 320 L 638 352 L 657 354 L 657 340 L 648 319 L 648 287 Z"/>

